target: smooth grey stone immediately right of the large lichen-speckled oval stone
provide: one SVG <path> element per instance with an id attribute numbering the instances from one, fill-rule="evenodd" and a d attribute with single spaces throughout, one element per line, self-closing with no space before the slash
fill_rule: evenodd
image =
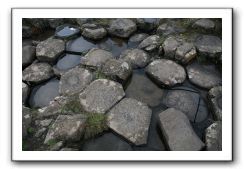
<path id="1" fill-rule="evenodd" d="M 214 86 L 221 85 L 221 74 L 214 65 L 200 65 L 193 63 L 186 67 L 188 78 L 191 83 L 211 89 Z"/>

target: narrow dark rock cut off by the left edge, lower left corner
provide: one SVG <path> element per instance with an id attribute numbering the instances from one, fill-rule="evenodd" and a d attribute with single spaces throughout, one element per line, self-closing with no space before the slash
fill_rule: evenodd
<path id="1" fill-rule="evenodd" d="M 28 134 L 28 128 L 31 124 L 31 109 L 22 106 L 22 138 L 25 138 Z"/>

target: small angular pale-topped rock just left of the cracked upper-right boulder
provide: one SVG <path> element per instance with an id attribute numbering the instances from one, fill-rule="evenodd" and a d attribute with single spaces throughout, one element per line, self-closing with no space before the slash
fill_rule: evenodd
<path id="1" fill-rule="evenodd" d="M 151 35 L 144 39 L 138 46 L 140 49 L 144 49 L 148 52 L 151 52 L 158 48 L 160 45 L 160 38 L 158 35 Z"/>

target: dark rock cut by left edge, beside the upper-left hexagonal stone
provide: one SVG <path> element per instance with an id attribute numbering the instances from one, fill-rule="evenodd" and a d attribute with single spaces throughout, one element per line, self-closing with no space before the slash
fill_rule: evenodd
<path id="1" fill-rule="evenodd" d="M 35 46 L 26 45 L 22 47 L 22 66 L 31 64 L 36 56 Z"/>

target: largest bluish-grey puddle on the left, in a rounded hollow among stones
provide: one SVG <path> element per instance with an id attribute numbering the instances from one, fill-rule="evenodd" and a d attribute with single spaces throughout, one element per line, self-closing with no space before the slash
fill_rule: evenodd
<path id="1" fill-rule="evenodd" d="M 31 108 L 45 107 L 49 105 L 56 96 L 59 95 L 59 80 L 51 79 L 43 84 L 35 86 L 29 97 Z"/>

